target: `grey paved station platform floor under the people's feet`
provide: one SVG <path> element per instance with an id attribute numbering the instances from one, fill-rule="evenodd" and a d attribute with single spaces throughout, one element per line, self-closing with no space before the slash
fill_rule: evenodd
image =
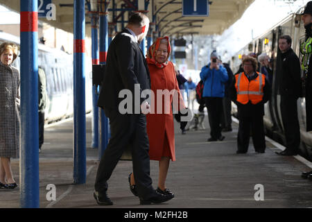
<path id="1" fill-rule="evenodd" d="M 98 150 L 91 148 L 91 117 L 87 116 L 87 182 L 73 185 L 73 123 L 65 121 L 45 128 L 40 153 L 41 208 L 275 208 L 312 207 L 312 181 L 301 178 L 302 171 L 312 170 L 300 157 L 275 154 L 280 146 L 267 140 L 266 153 L 255 153 L 250 139 L 246 154 L 236 154 L 238 124 L 223 133 L 222 142 L 207 142 L 206 130 L 180 133 L 175 122 L 176 161 L 171 162 L 166 186 L 175 198 L 159 205 L 139 205 L 132 195 L 128 175 L 132 163 L 119 161 L 109 180 L 108 196 L 112 206 L 99 206 L 93 197 L 98 168 Z M 310 167 L 309 167 L 310 164 Z M 19 182 L 19 160 L 12 160 L 12 171 Z M 150 175 L 157 188 L 158 162 L 150 162 Z M 56 200 L 47 200 L 46 186 L 56 187 Z M 262 186 L 262 189 L 259 188 Z M 261 194 L 259 191 L 263 191 Z M 260 198 L 260 200 L 259 200 Z M 257 200 L 256 200 L 257 199 Z M 19 189 L 1 189 L 0 207 L 19 207 Z"/>

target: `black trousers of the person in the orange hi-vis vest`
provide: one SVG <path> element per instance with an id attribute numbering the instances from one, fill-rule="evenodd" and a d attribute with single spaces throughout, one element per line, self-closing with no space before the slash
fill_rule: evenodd
<path id="1" fill-rule="evenodd" d="M 255 151 L 265 151 L 266 138 L 263 128 L 263 115 L 254 114 L 251 116 L 239 115 L 239 134 L 237 136 L 237 149 L 247 152 L 250 138 L 250 126 L 252 129 L 252 142 Z"/>

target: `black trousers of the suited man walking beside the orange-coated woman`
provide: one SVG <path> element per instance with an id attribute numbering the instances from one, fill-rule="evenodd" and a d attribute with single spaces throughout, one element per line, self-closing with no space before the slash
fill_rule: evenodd
<path id="1" fill-rule="evenodd" d="M 112 171 L 114 171 L 125 147 L 130 144 L 138 195 L 141 198 L 149 198 L 154 189 L 150 178 L 146 116 L 144 114 L 119 114 L 116 111 L 110 113 L 109 118 L 111 138 L 98 166 L 95 190 L 107 191 L 107 180 L 112 176 Z"/>

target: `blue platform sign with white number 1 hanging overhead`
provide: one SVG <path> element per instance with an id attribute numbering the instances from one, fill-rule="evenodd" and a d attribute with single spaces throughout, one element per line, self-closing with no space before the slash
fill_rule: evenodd
<path id="1" fill-rule="evenodd" d="M 182 16 L 209 16 L 208 0 L 183 0 Z"/>

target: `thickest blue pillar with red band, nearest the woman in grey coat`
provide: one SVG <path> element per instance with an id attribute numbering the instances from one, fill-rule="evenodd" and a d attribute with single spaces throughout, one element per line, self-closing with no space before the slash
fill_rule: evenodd
<path id="1" fill-rule="evenodd" d="M 38 131 L 37 0 L 21 3 L 21 156 L 20 206 L 40 207 Z"/>

